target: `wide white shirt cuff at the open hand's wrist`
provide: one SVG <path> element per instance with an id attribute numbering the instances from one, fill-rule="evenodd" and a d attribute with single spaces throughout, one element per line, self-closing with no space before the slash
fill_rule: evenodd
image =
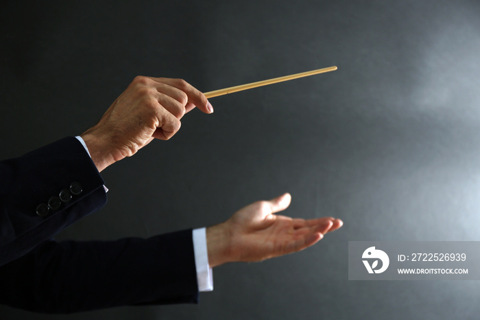
<path id="1" fill-rule="evenodd" d="M 206 250 L 206 229 L 194 229 L 193 251 L 197 268 L 197 284 L 200 292 L 213 290 L 212 268 L 208 265 L 208 251 Z"/>

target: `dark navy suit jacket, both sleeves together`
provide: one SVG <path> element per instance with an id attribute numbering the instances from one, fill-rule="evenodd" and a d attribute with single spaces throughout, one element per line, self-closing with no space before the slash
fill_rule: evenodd
<path id="1" fill-rule="evenodd" d="M 67 313 L 197 302 L 191 230 L 146 240 L 51 240 L 106 203 L 104 181 L 77 139 L 1 161 L 0 177 L 0 303 Z"/>

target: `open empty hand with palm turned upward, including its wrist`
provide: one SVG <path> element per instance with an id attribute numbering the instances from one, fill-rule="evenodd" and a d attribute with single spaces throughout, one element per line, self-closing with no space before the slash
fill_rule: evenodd
<path id="1" fill-rule="evenodd" d="M 343 225 L 331 217 L 304 220 L 277 215 L 287 209 L 290 201 L 290 194 L 283 194 L 252 203 L 226 222 L 208 227 L 209 264 L 213 267 L 226 262 L 254 262 L 300 251 Z"/>

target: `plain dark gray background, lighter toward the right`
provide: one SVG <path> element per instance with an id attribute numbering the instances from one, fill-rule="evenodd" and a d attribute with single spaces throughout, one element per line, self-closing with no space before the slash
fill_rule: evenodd
<path id="1" fill-rule="evenodd" d="M 82 133 L 139 74 L 210 91 L 339 67 L 213 98 L 102 172 L 108 205 L 59 238 L 212 225 L 286 191 L 287 214 L 345 225 L 215 268 L 198 306 L 0 319 L 477 319 L 478 282 L 348 281 L 348 240 L 480 240 L 478 1 L 16 3 L 1 10 L 2 159 Z"/>

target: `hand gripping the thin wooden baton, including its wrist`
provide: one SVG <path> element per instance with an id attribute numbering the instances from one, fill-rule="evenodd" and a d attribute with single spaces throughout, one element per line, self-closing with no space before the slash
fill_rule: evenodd
<path id="1" fill-rule="evenodd" d="M 184 80 L 138 76 L 81 137 L 101 171 L 134 155 L 154 138 L 173 137 L 180 119 L 195 106 L 213 113 L 205 95 Z"/>

